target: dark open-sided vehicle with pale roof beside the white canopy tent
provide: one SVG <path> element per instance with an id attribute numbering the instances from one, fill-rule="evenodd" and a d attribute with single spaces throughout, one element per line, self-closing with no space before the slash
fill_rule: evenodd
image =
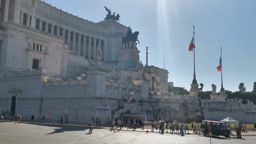
<path id="1" fill-rule="evenodd" d="M 212 135 L 223 135 L 226 138 L 230 137 L 230 129 L 228 129 L 225 122 L 220 121 L 202 121 L 201 129 L 204 129 L 204 134 L 209 134 L 209 125 L 211 127 Z"/>

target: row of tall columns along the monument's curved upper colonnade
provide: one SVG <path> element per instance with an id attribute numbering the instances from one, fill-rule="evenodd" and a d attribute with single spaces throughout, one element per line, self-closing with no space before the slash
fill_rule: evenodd
<path id="1" fill-rule="evenodd" d="M 27 16 L 26 26 L 29 26 L 29 22 L 30 22 L 29 17 L 31 16 L 27 13 L 22 13 L 22 12 L 21 12 L 21 15 Z M 31 26 L 32 26 L 32 23 L 34 23 L 33 27 L 35 29 L 46 31 L 47 33 L 52 35 L 61 36 L 65 44 L 68 45 L 68 49 L 70 51 L 73 51 L 74 53 L 77 53 L 78 55 L 81 55 L 85 58 L 94 59 L 96 57 L 98 46 L 101 47 L 101 51 L 103 52 L 103 54 L 105 53 L 103 50 L 105 49 L 105 40 L 103 39 L 80 34 L 63 27 L 60 28 L 59 26 L 54 25 L 53 23 L 43 21 L 39 18 L 35 18 L 35 21 L 32 21 L 32 19 L 33 18 L 31 17 Z M 25 21 L 24 18 L 20 18 L 21 24 L 24 24 L 25 23 L 24 21 Z M 105 57 L 103 57 L 103 59 L 104 58 Z"/>

